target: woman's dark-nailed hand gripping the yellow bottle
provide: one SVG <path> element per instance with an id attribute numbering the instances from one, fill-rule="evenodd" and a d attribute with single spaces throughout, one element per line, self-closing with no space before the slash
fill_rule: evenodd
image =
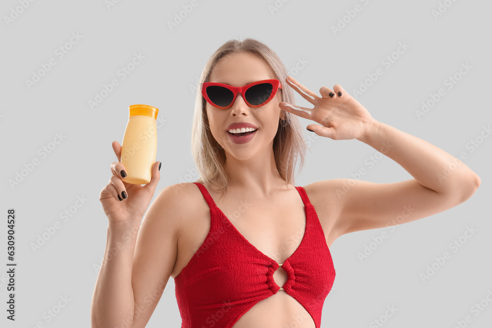
<path id="1" fill-rule="evenodd" d="M 117 141 L 113 141 L 112 146 L 118 162 L 111 164 L 113 176 L 101 190 L 99 200 L 110 223 L 127 221 L 140 224 L 160 179 L 160 162 L 154 162 L 152 179 L 149 183 L 145 185 L 126 183 L 123 177 L 125 167 L 121 163 L 122 147 Z"/>

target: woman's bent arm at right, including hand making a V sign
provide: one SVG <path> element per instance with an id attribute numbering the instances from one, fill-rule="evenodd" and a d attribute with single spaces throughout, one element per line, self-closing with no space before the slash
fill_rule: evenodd
<path id="1" fill-rule="evenodd" d="M 325 198 L 323 206 L 330 206 L 330 225 L 336 236 L 442 212 L 470 198 L 480 185 L 480 178 L 463 162 L 422 139 L 373 119 L 340 85 L 333 90 L 321 87 L 319 97 L 292 77 L 287 77 L 286 82 L 314 108 L 295 110 L 296 106 L 283 101 L 279 106 L 321 124 L 309 124 L 308 130 L 333 140 L 362 141 L 393 159 L 414 178 L 395 183 L 334 179 L 307 185 L 307 192 L 316 199 Z"/>

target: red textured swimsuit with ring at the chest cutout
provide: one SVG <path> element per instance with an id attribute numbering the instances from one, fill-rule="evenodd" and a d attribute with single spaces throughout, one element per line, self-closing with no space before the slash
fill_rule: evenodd
<path id="1" fill-rule="evenodd" d="M 246 240 L 203 184 L 193 183 L 210 207 L 211 222 L 204 242 L 174 279 L 182 328 L 231 328 L 257 302 L 282 290 L 295 298 L 320 328 L 335 268 L 304 188 L 296 187 L 306 211 L 306 230 L 299 247 L 281 265 L 287 281 L 280 288 L 273 278 L 280 265 Z"/>

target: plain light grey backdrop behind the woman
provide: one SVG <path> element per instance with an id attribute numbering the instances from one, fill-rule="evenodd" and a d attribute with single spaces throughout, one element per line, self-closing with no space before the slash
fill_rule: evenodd
<path id="1" fill-rule="evenodd" d="M 128 106 L 145 103 L 160 110 L 156 160 L 162 161 L 162 169 L 157 189 L 181 179 L 195 181 L 196 174 L 187 176 L 195 167 L 190 152 L 192 89 L 217 47 L 247 37 L 269 45 L 290 75 L 314 92 L 340 84 L 353 94 L 368 74 L 382 68 L 384 74 L 357 98 L 372 117 L 454 156 L 464 151 L 463 162 L 482 180 L 472 198 L 453 209 L 394 231 L 376 229 L 337 239 L 331 247 L 337 277 L 325 301 L 322 327 L 376 327 L 371 322 L 384 316 L 387 306 L 398 310 L 384 327 L 451 328 L 466 315 L 472 318 L 468 327 L 490 327 L 487 168 L 492 138 L 487 134 L 489 138 L 480 140 L 492 121 L 490 1 L 198 0 L 173 30 L 168 21 L 191 1 L 120 0 L 109 7 L 103 0 L 25 1 L 25 9 L 21 2 L 2 1 L 0 10 L 2 327 L 34 327 L 38 322 L 46 327 L 90 327 L 108 223 L 98 196 L 111 177 L 110 164 L 116 160 L 111 142 L 123 141 Z M 361 10 L 350 18 L 347 11 L 356 5 Z M 432 12 L 439 7 L 446 10 L 436 18 Z M 20 14 L 16 17 L 15 12 Z M 332 26 L 343 19 L 348 23 L 334 33 Z M 57 48 L 69 42 L 72 33 L 80 40 L 60 58 Z M 382 60 L 397 57 L 399 43 L 409 47 L 387 67 Z M 135 53 L 145 59 L 122 79 L 118 71 Z M 56 65 L 29 88 L 26 80 L 51 58 Z M 302 60 L 305 65 L 298 64 Z M 459 73 L 462 63 L 471 69 L 448 89 L 445 80 Z M 296 64 L 301 69 L 296 70 Z M 91 109 L 89 100 L 112 79 L 119 85 Z M 418 119 L 415 111 L 439 88 L 446 94 Z M 310 107 L 297 93 L 296 99 Z M 300 120 L 303 127 L 312 123 Z M 64 137 L 55 144 L 57 133 Z M 386 156 L 369 167 L 376 150 L 357 140 L 335 141 L 307 130 L 305 136 L 311 138 L 311 151 L 296 185 L 352 178 L 360 168 L 368 171 L 360 178 L 366 181 L 412 178 Z M 480 146 L 467 148 L 476 139 Z M 51 146 L 46 155 L 39 151 Z M 12 187 L 9 181 L 28 172 L 25 167 L 35 159 L 39 165 Z M 78 209 L 77 197 L 87 199 Z M 5 319 L 9 208 L 16 210 L 15 323 Z M 70 209 L 76 210 L 63 222 L 61 213 Z M 61 228 L 34 252 L 31 244 L 55 221 Z M 453 253 L 448 245 L 467 227 L 477 232 Z M 383 231 L 389 237 L 361 263 L 358 252 Z M 445 251 L 451 259 L 424 283 L 420 274 Z M 70 300 L 48 322 L 43 314 L 65 296 Z M 471 307 L 482 300 L 488 307 L 476 316 Z M 171 278 L 147 327 L 180 326 Z"/>

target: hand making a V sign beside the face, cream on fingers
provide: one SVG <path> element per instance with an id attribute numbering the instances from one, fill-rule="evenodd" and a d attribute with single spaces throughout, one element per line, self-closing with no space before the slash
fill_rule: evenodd
<path id="1" fill-rule="evenodd" d="M 370 116 L 368 110 L 338 84 L 333 90 L 321 87 L 319 97 L 290 76 L 286 78 L 286 82 L 313 104 L 314 108 L 293 106 L 284 101 L 279 103 L 279 107 L 286 112 L 320 123 L 321 126 L 307 125 L 308 129 L 319 136 L 333 140 L 363 139 L 374 125 L 375 119 Z"/>

